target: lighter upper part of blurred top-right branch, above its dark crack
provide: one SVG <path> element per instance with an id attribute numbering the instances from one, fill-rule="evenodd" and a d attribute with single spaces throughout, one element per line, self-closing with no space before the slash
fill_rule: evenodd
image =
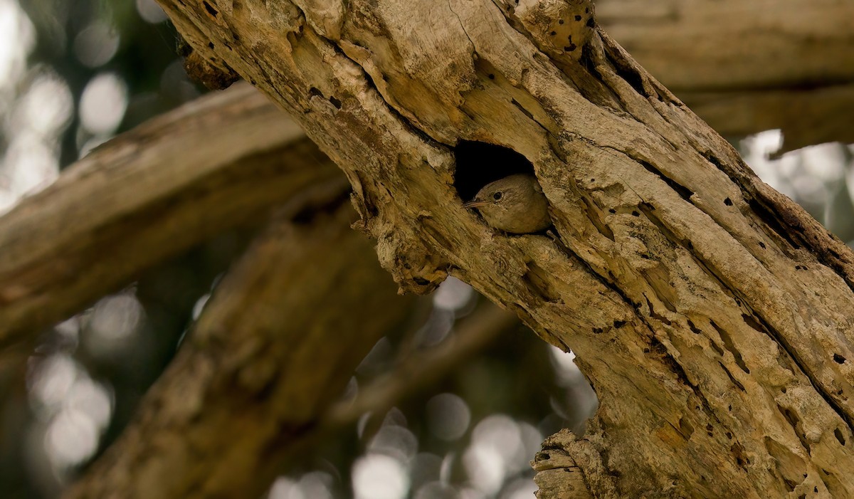
<path id="1" fill-rule="evenodd" d="M 760 0 L 597 0 L 596 16 L 671 90 L 854 82 L 854 5 L 777 0 L 768 7 Z"/>

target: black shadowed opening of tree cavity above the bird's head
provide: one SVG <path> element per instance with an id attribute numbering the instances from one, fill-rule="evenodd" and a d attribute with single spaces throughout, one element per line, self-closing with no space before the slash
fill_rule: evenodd
<path id="1" fill-rule="evenodd" d="M 534 174 L 534 165 L 515 150 L 486 142 L 460 140 L 453 148 L 457 162 L 453 186 L 468 201 L 489 182 L 515 173 Z"/>

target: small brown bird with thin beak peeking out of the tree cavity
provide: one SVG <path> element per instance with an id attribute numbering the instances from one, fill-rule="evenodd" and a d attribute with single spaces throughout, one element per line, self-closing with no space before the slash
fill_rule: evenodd
<path id="1" fill-rule="evenodd" d="M 534 175 L 518 173 L 483 186 L 463 205 L 477 208 L 490 226 L 513 234 L 529 234 L 552 225 L 548 202 Z"/>

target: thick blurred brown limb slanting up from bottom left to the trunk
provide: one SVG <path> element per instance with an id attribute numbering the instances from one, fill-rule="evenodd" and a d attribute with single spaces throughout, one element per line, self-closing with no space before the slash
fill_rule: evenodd
<path id="1" fill-rule="evenodd" d="M 341 183 L 306 197 L 231 269 L 136 420 L 66 497 L 256 497 L 301 456 L 413 303 L 350 230 Z"/>

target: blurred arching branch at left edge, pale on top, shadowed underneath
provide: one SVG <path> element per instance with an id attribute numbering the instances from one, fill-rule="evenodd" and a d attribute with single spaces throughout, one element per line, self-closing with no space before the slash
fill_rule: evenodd
<path id="1" fill-rule="evenodd" d="M 0 217 L 0 344 L 340 175 L 249 85 L 150 120 Z"/>

